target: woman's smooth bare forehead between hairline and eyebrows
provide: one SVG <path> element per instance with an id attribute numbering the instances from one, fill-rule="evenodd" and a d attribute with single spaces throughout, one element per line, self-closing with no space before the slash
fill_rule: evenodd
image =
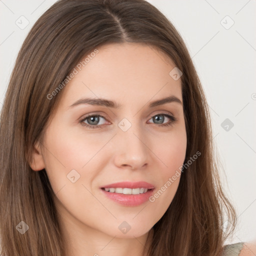
<path id="1" fill-rule="evenodd" d="M 157 47 L 111 43 L 96 49 L 96 54 L 87 53 L 74 67 L 76 74 L 62 94 L 64 106 L 81 96 L 118 98 L 123 103 L 181 97 L 181 79 L 169 75 L 175 65 Z"/>

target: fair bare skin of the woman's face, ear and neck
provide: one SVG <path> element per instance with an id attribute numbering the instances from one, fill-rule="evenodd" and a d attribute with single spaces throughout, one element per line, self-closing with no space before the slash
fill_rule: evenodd
<path id="1" fill-rule="evenodd" d="M 180 176 L 153 202 L 138 206 L 120 205 L 107 198 L 100 187 L 143 180 L 157 191 L 183 164 L 186 131 L 181 79 L 169 75 L 175 65 L 155 47 L 122 43 L 97 49 L 99 52 L 63 88 L 43 143 L 34 147 L 30 166 L 47 172 L 68 255 L 141 256 L 145 255 L 144 246 L 148 248 L 145 241 L 153 232 L 152 226 L 175 195 Z M 148 106 L 170 95 L 181 103 Z M 121 107 L 69 107 L 88 96 L 110 99 Z M 176 118 L 172 125 L 160 125 L 171 121 L 163 111 Z M 87 114 L 103 115 L 96 124 L 101 128 L 82 126 L 79 119 Z M 154 115 L 164 119 L 157 123 L 151 118 Z M 123 118 L 131 123 L 125 132 L 117 125 Z M 88 119 L 83 122 L 91 123 Z M 67 178 L 72 169 L 80 174 L 74 183 Z M 118 228 L 123 221 L 130 226 L 126 233 Z"/>

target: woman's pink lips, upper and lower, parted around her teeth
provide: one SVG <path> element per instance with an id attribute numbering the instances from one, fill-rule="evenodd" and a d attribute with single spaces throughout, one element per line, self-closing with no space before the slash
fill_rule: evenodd
<path id="1" fill-rule="evenodd" d="M 104 188 L 109 188 L 109 187 L 121 187 L 121 188 L 147 188 L 150 190 L 147 190 L 145 193 L 141 194 L 121 194 L 121 193 L 114 193 L 114 192 L 108 192 L 105 191 Z M 154 186 L 152 184 L 149 184 L 145 181 L 139 181 L 139 182 L 117 182 L 117 183 L 112 183 L 108 185 L 104 185 L 101 187 L 101 191 L 106 195 L 109 199 L 125 205 L 125 206 L 137 206 L 140 205 L 148 200 L 148 198 L 152 195 Z"/>

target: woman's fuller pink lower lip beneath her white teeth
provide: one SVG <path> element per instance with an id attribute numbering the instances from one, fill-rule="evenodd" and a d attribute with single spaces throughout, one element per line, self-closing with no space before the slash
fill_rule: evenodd
<path id="1" fill-rule="evenodd" d="M 145 193 L 141 194 L 122 194 L 122 193 L 115 193 L 115 192 L 108 192 L 102 189 L 102 192 L 113 201 L 126 205 L 126 206 L 137 206 L 146 201 L 148 198 L 153 194 L 154 189 L 147 190 Z"/>

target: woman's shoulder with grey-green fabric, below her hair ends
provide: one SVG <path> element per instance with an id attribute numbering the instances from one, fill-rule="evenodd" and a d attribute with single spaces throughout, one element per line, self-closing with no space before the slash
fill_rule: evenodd
<path id="1" fill-rule="evenodd" d="M 255 256 L 256 244 L 250 242 L 237 242 L 223 246 L 221 256 Z"/>

